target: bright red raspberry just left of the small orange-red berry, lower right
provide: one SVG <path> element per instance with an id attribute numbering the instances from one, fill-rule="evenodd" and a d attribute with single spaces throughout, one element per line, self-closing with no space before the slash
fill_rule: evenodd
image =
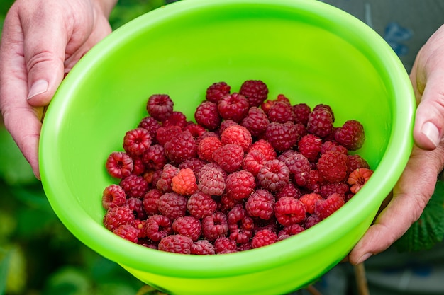
<path id="1" fill-rule="evenodd" d="M 300 224 L 305 220 L 306 209 L 299 199 L 282 197 L 274 204 L 274 216 L 283 226 Z"/>

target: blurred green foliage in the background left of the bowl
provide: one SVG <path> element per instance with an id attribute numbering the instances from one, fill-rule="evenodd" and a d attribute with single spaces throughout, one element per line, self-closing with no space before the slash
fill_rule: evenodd
<path id="1" fill-rule="evenodd" d="M 116 29 L 164 0 L 121 0 Z M 13 0 L 0 1 L 0 28 Z M 0 117 L 1 119 L 1 117 Z M 0 295 L 158 294 L 67 231 L 0 120 Z"/>

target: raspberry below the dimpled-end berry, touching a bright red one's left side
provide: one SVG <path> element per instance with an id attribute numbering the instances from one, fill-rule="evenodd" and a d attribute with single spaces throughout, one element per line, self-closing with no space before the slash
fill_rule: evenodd
<path id="1" fill-rule="evenodd" d="M 268 220 L 274 212 L 274 196 L 268 190 L 256 190 L 248 197 L 245 209 L 252 217 Z"/>

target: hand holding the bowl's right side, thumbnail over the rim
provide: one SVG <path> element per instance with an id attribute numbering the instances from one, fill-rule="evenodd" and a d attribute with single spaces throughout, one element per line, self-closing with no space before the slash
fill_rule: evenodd
<path id="1" fill-rule="evenodd" d="M 444 167 L 444 25 L 416 55 L 410 79 L 418 108 L 414 149 L 392 199 L 348 255 L 357 265 L 400 238 L 423 212 Z"/>

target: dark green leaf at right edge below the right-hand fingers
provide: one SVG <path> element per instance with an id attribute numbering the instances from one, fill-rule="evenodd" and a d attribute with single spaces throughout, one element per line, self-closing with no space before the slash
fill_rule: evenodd
<path id="1" fill-rule="evenodd" d="M 399 252 L 429 250 L 444 238 L 444 182 L 438 180 L 419 219 L 394 243 Z"/>

